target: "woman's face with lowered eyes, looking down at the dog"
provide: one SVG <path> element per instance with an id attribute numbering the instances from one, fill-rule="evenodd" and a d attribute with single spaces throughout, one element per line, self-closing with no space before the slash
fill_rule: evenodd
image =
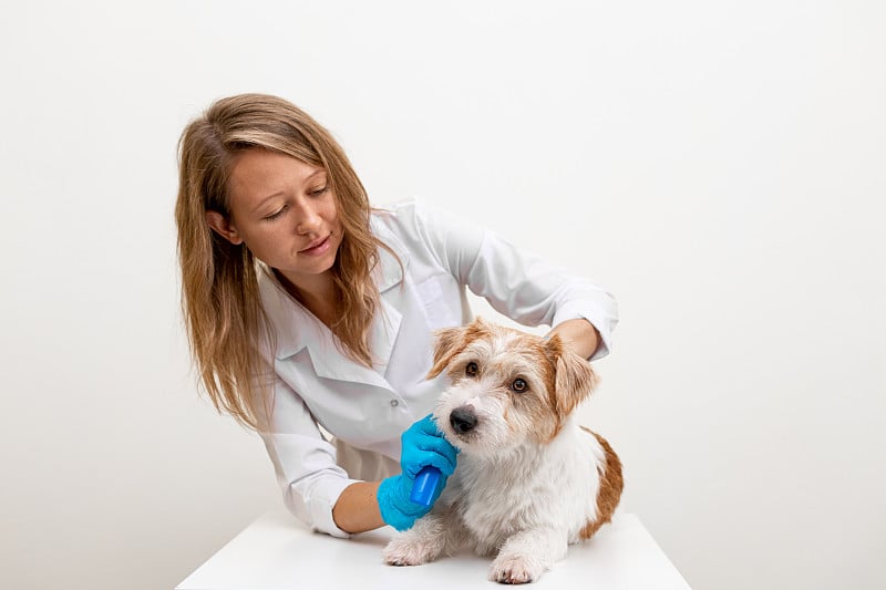
<path id="1" fill-rule="evenodd" d="M 213 229 L 298 288 L 329 272 L 342 228 L 323 168 L 254 148 L 236 157 L 229 183 L 230 217 L 207 213 Z"/>

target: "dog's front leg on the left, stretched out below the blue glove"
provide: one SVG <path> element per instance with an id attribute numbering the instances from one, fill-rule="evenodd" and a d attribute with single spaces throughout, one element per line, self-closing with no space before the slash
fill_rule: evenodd
<path id="1" fill-rule="evenodd" d="M 464 532 L 451 508 L 431 513 L 391 539 L 382 556 L 390 566 L 421 566 L 443 552 L 453 552 L 462 544 Z"/>

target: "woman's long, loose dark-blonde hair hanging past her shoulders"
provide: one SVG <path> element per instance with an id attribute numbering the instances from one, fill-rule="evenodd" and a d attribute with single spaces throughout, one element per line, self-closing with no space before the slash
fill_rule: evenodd
<path id="1" fill-rule="evenodd" d="M 372 362 L 368 332 L 379 309 L 371 278 L 379 247 L 370 231 L 371 207 L 362 183 L 332 135 L 293 104 L 265 94 L 215 102 L 192 121 L 178 143 L 175 206 L 182 266 L 182 310 L 190 351 L 215 407 L 259 428 L 269 416 L 274 327 L 261 307 L 256 259 L 209 228 L 207 211 L 229 219 L 228 179 L 236 156 L 270 149 L 322 167 L 343 229 L 332 275 L 338 321 L 330 325 L 352 360 Z M 393 253 L 393 252 L 392 252 Z M 262 346 L 270 345 L 265 359 Z M 264 400 L 264 407 L 258 403 Z"/>

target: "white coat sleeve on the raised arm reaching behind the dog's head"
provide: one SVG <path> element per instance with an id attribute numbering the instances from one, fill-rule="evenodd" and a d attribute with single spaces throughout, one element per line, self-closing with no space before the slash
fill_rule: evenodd
<path id="1" fill-rule="evenodd" d="M 497 312 L 524 325 L 555 327 L 584 318 L 600 334 L 591 360 L 609 353 L 618 323 L 618 306 L 610 293 L 464 219 L 420 201 L 415 213 L 441 263 Z"/>

